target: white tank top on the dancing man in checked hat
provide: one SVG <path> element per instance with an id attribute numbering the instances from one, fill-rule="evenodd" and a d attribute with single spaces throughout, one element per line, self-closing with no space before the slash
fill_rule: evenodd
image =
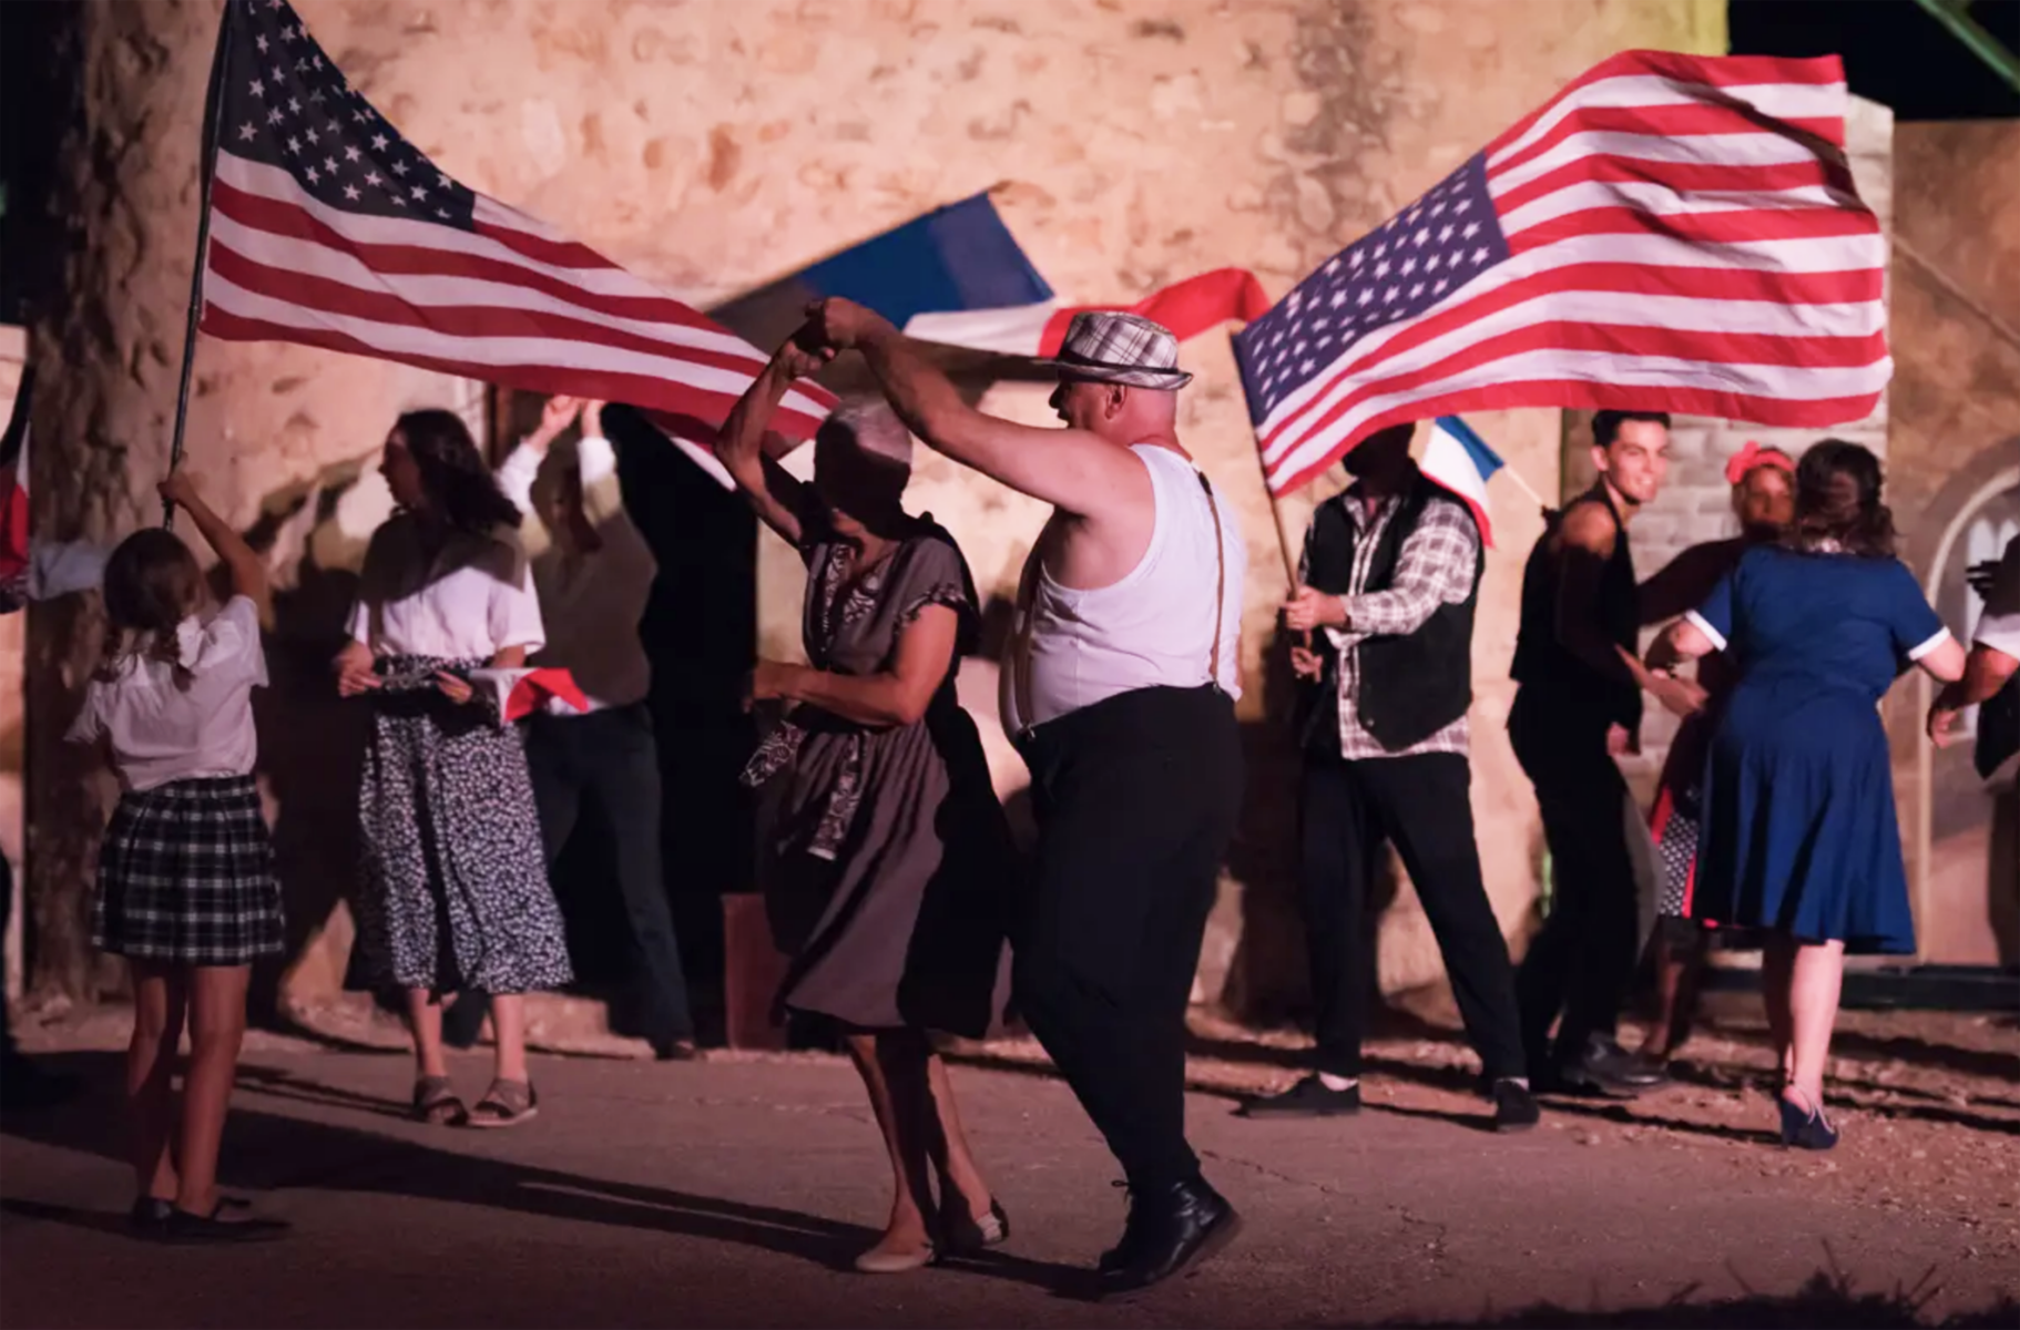
<path id="1" fill-rule="evenodd" d="M 1248 571 L 1240 523 L 1178 452 L 1157 444 L 1135 444 L 1131 452 L 1149 472 L 1155 503 L 1137 565 L 1121 581 L 1081 591 L 1054 581 L 1038 549 L 1024 561 L 1000 696 L 1010 735 L 1133 688 L 1198 688 L 1212 676 L 1228 696 L 1240 696 Z"/>

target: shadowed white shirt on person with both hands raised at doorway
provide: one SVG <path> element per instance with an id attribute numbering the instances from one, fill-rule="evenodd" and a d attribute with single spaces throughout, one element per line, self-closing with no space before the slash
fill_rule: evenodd
<path id="1" fill-rule="evenodd" d="M 543 454 L 519 444 L 499 466 L 499 488 L 533 511 L 533 482 Z M 638 642 L 638 620 L 652 595 L 659 563 L 618 498 L 618 454 L 608 438 L 586 436 L 576 444 L 582 468 L 584 511 L 596 527 L 600 549 L 566 549 L 564 533 L 533 559 L 533 587 L 547 626 L 547 648 L 533 664 L 568 670 L 590 698 L 590 710 L 630 706 L 652 690 L 652 662 Z"/>

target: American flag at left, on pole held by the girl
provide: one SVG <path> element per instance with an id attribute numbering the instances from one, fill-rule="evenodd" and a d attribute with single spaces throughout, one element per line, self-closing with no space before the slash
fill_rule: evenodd
<path id="1" fill-rule="evenodd" d="M 766 355 L 551 226 L 459 184 L 354 89 L 287 0 L 228 0 L 202 327 L 541 394 L 705 436 Z M 780 432 L 834 398 L 800 383 Z"/>

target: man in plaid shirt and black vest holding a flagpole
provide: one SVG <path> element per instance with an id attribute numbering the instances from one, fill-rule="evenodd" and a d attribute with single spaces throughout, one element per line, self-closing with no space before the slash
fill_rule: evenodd
<path id="1" fill-rule="evenodd" d="M 1305 682 L 1299 741 L 1301 906 L 1319 1009 L 1315 1070 L 1242 1108 L 1248 1118 L 1359 1112 L 1376 936 L 1368 892 L 1394 844 L 1444 955 L 1495 1126 L 1537 1122 L 1515 973 L 1473 840 L 1473 513 L 1410 460 L 1412 426 L 1347 454 L 1353 484 L 1313 515 L 1285 624 Z M 1315 634 L 1315 636 L 1313 636 Z"/>

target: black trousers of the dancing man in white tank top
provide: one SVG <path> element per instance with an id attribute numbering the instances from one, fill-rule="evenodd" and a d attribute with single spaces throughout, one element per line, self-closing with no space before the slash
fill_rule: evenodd
<path id="1" fill-rule="evenodd" d="M 1192 1181 L 1186 1005 L 1240 809 L 1234 704 L 1218 688 L 1139 688 L 1018 747 L 1038 821 L 1018 1009 L 1131 1187 Z"/>

